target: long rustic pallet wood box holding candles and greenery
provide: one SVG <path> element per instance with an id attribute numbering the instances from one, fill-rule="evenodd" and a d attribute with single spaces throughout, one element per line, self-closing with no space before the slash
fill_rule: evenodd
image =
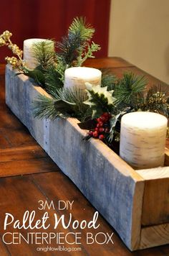
<path id="1" fill-rule="evenodd" d="M 165 167 L 134 170 L 100 140 L 82 140 L 77 119 L 35 119 L 32 101 L 48 95 L 6 65 L 6 104 L 130 250 L 169 243 L 169 153 Z M 62 184 L 60 184 L 62 186 Z"/>

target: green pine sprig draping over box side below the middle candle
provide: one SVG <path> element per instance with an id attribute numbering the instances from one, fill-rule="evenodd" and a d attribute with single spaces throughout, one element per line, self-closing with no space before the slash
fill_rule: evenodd
<path id="1" fill-rule="evenodd" d="M 83 103 L 87 99 L 87 94 L 83 90 L 59 88 L 52 95 L 52 99 L 47 96 L 39 96 L 34 101 L 34 116 L 38 116 L 39 119 L 73 116 L 83 121 L 91 115 L 89 106 Z"/>

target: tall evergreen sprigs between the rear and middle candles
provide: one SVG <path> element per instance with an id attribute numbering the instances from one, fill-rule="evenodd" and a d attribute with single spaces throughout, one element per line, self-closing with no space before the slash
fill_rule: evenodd
<path id="1" fill-rule="evenodd" d="M 54 43 L 57 52 L 50 40 L 34 44 L 34 56 L 37 58 L 39 67 L 34 70 L 24 70 L 26 76 L 38 79 L 36 82 L 47 91 L 55 92 L 62 88 L 64 83 L 64 71 L 72 66 L 80 66 L 87 58 L 95 58 L 93 52 L 100 50 L 100 46 L 92 42 L 95 29 L 85 22 L 82 17 L 75 18 L 69 27 L 66 36 L 61 42 Z M 39 72 L 42 71 L 41 73 Z M 42 83 L 43 81 L 43 83 Z"/>

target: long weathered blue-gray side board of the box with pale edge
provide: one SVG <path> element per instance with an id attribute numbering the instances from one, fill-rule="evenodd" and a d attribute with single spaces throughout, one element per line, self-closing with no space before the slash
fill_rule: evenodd
<path id="1" fill-rule="evenodd" d="M 40 93 L 26 76 L 6 66 L 6 104 L 52 160 L 116 229 L 130 250 L 140 247 L 145 181 L 99 140 L 82 140 L 77 119 L 35 119 L 32 101 Z M 45 93 L 47 94 L 47 93 Z M 148 247 L 151 245 L 148 244 Z"/>

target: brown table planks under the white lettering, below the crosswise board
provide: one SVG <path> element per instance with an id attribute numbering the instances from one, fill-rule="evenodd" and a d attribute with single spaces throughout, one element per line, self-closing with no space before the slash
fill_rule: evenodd
<path id="1" fill-rule="evenodd" d="M 42 217 L 44 211 L 39 211 L 38 201 L 39 200 L 47 200 L 48 202 L 54 201 L 54 209 L 50 209 L 49 212 L 49 230 L 47 233 L 54 232 L 52 226 L 54 224 L 53 214 L 57 213 L 58 216 L 61 214 L 65 214 L 65 217 L 69 216 L 70 211 L 63 210 L 58 211 L 58 201 L 59 200 L 69 200 L 74 201 L 74 206 L 72 207 L 72 216 L 73 219 L 86 219 L 89 221 L 91 216 L 94 214 L 95 209 L 92 207 L 89 201 L 80 193 L 79 190 L 74 186 L 74 184 L 67 178 L 62 172 L 53 172 L 53 173 L 38 173 L 34 175 L 25 175 L 20 177 L 9 177 L 9 178 L 1 178 L 0 179 L 0 201 L 1 201 L 1 218 L 0 225 L 3 227 L 4 224 L 4 216 L 6 212 L 13 214 L 17 219 L 21 220 L 24 214 L 24 211 L 35 210 L 36 211 L 36 219 Z M 4 200 L 4 198 L 6 198 Z M 107 224 L 107 222 L 99 216 L 98 223 L 100 227 L 97 231 L 92 230 L 93 234 L 96 232 L 107 232 L 108 234 L 113 234 L 113 242 L 114 244 L 87 244 L 85 242 L 85 235 L 88 232 L 88 229 L 81 230 L 82 231 L 82 244 L 79 244 L 78 247 L 82 249 L 80 252 L 37 252 L 37 247 L 39 244 L 26 244 L 26 242 L 21 242 L 21 244 L 8 244 L 4 245 L 2 242 L 0 243 L 0 252 L 2 256 L 11 255 L 72 255 L 72 256 L 83 256 L 83 255 L 105 255 L 105 256 L 161 256 L 163 253 L 163 247 L 160 248 L 152 248 L 150 250 L 143 250 L 142 252 L 130 252 L 127 250 L 125 245 L 122 243 L 121 239 L 115 233 L 115 230 Z M 8 227 L 9 232 L 14 232 L 12 226 Z M 43 232 L 44 230 L 34 230 L 35 232 Z M 79 229 L 77 230 L 79 232 Z M 31 232 L 30 229 L 20 230 L 21 234 L 26 235 L 26 232 Z M 62 226 L 59 225 L 57 232 L 64 232 L 67 234 L 68 232 L 72 232 L 72 229 L 63 230 Z M 0 235 L 4 234 L 3 229 L 1 229 Z M 52 242 L 50 244 L 52 247 L 57 247 L 56 242 Z M 46 247 L 46 244 L 43 244 L 43 247 Z M 74 247 L 74 246 L 70 246 Z M 164 247 L 164 250 L 167 250 Z M 23 253 L 24 252 L 24 253 Z"/>

